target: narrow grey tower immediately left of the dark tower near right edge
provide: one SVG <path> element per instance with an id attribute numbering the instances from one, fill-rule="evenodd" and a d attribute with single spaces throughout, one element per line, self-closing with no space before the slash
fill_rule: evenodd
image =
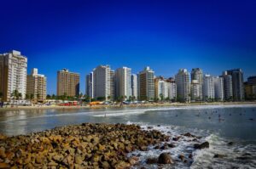
<path id="1" fill-rule="evenodd" d="M 224 71 L 221 77 L 224 79 L 224 99 L 233 100 L 232 76 Z"/>

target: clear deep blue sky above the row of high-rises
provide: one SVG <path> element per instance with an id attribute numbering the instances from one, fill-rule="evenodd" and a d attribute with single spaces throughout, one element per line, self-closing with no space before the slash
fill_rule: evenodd
<path id="1" fill-rule="evenodd" d="M 57 70 L 85 75 L 97 65 L 149 65 L 157 76 L 200 67 L 218 76 L 241 68 L 256 75 L 255 0 L 2 0 L 0 53 L 19 50 L 48 77 Z"/>

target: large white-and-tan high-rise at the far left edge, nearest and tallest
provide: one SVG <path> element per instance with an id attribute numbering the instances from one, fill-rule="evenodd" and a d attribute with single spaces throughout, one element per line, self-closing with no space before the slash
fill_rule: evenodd
<path id="1" fill-rule="evenodd" d="M 10 101 L 12 93 L 21 93 L 20 99 L 26 97 L 27 58 L 19 51 L 0 54 L 0 92 L 3 101 Z"/>

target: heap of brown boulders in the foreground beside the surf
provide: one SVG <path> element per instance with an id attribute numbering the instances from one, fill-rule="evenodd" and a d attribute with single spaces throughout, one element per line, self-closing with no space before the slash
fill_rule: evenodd
<path id="1" fill-rule="evenodd" d="M 168 141 L 161 132 L 136 125 L 90 124 L 56 127 L 29 135 L 0 135 L 0 168 L 129 168 L 127 153 Z"/>

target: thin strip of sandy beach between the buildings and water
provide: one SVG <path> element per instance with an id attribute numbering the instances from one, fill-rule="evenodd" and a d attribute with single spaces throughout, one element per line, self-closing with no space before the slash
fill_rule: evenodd
<path id="1" fill-rule="evenodd" d="M 232 105 L 232 104 L 240 104 L 240 105 L 256 105 L 256 102 L 213 102 L 213 103 L 190 103 L 190 104 L 183 104 L 183 103 L 152 103 L 152 104 L 131 104 L 131 105 L 77 105 L 77 106 L 17 106 L 17 107 L 7 107 L 7 108 L 0 108 L 1 111 L 10 111 L 10 110 L 81 110 L 81 109 L 88 109 L 88 110 L 96 110 L 96 109 L 122 109 L 126 107 L 131 108 L 150 108 L 150 107 L 189 107 L 189 106 L 196 106 L 196 105 Z"/>

